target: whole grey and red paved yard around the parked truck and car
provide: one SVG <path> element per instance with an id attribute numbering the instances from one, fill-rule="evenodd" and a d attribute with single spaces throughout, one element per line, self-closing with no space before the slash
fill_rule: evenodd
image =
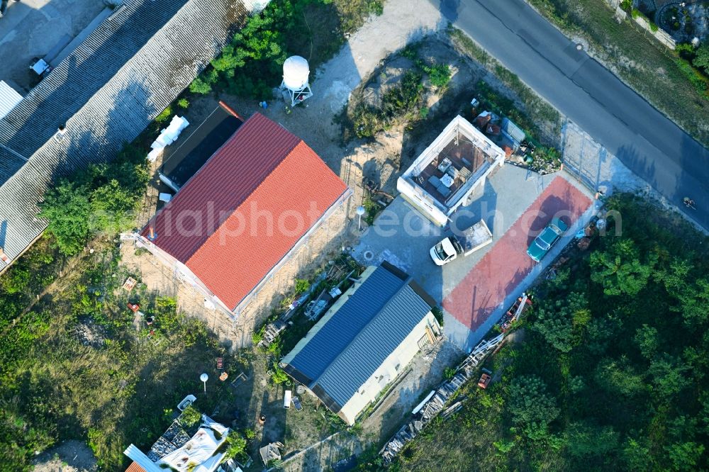
<path id="1" fill-rule="evenodd" d="M 576 223 L 568 233 L 573 235 L 574 228 L 591 216 L 588 207 L 592 197 L 588 190 L 569 182 L 566 174 L 540 176 L 506 165 L 490 176 L 466 206 L 454 213 L 447 228 L 433 225 L 402 198 L 396 198 L 364 231 L 353 256 L 363 264 L 376 265 L 387 260 L 411 274 L 442 303 L 445 335 L 461 349 L 468 350 L 502 315 L 501 307 L 511 304 L 571 240 L 569 236 L 560 241 L 542 264 L 533 265 L 527 257 L 527 241 L 546 225 L 557 207 L 569 210 L 564 208 L 567 200 L 572 202 L 571 213 L 562 214 L 569 215 L 566 219 Z M 546 203 L 542 205 L 543 202 Z M 544 218 L 540 210 L 545 212 Z M 493 232 L 491 245 L 445 266 L 432 262 L 429 249 L 433 245 L 481 219 Z M 498 246 L 501 249 L 496 249 Z M 520 254 L 524 257 L 518 257 Z M 481 269 L 486 268 L 481 271 L 485 276 L 478 278 L 477 266 L 481 263 L 484 264 Z"/>

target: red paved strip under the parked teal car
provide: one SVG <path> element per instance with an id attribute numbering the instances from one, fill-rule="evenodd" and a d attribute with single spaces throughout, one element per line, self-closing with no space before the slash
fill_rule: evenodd
<path id="1" fill-rule="evenodd" d="M 590 205 L 590 198 L 557 176 L 443 300 L 443 308 L 476 330 L 532 270 L 527 247 L 540 230 L 554 216 L 570 227 Z"/>

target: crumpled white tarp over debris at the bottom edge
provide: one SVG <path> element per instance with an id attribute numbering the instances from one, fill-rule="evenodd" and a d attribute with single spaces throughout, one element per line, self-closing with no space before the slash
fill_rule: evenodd
<path id="1" fill-rule="evenodd" d="M 216 432 L 216 434 L 215 434 Z M 197 430 L 192 439 L 179 449 L 175 449 L 160 461 L 157 466 L 165 464 L 179 472 L 190 469 L 193 472 L 213 472 L 222 461 L 225 451 L 214 454 L 219 446 L 226 440 L 229 428 L 202 416 L 202 426 Z M 219 439 L 217 439 L 219 438 Z"/>

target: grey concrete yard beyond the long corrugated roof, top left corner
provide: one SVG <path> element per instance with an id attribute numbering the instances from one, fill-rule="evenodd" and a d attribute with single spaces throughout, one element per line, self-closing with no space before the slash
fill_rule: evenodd
<path id="1" fill-rule="evenodd" d="M 103 0 L 10 2 L 0 19 L 0 79 L 29 91 L 39 82 L 29 70 L 33 58 L 44 57 L 65 35 L 74 38 L 105 6 Z"/>

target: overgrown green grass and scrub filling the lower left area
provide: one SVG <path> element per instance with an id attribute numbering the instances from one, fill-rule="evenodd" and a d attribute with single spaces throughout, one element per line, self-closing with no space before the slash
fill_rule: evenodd
<path id="1" fill-rule="evenodd" d="M 67 439 L 88 442 L 102 470 L 124 470 L 125 446 L 149 447 L 179 400 L 199 391 L 199 373 L 221 355 L 206 326 L 179 313 L 171 298 L 145 286 L 129 298 L 112 237 L 92 247 L 94 254 L 71 259 L 62 276 L 47 264 L 43 282 L 57 281 L 49 296 L 33 300 L 33 282 L 15 283 L 11 294 L 0 289 L 0 300 L 13 302 L 0 307 L 0 456 L 13 470 L 30 470 L 35 451 Z M 54 251 L 33 246 L 4 277 L 18 279 Z M 128 300 L 155 317 L 152 326 L 142 322 L 136 332 Z M 77 335 L 87 331 L 94 333 L 90 343 Z M 230 394 L 224 384 L 210 387 L 200 395 L 202 410 Z"/>

